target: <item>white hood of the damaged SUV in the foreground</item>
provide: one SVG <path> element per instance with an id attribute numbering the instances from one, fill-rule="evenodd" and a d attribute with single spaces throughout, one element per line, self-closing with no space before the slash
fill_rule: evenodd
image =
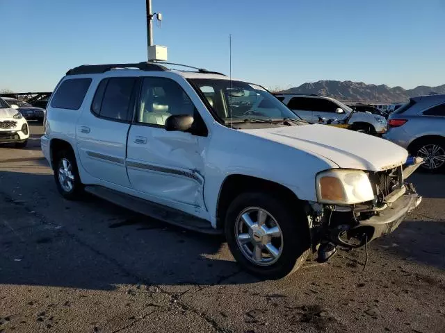
<path id="1" fill-rule="evenodd" d="M 408 157 L 404 148 L 385 139 L 327 125 L 242 131 L 325 157 L 345 169 L 381 171 L 404 164 Z"/>

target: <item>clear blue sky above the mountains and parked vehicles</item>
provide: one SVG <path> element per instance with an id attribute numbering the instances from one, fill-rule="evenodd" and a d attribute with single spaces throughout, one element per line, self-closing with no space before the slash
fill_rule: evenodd
<path id="1" fill-rule="evenodd" d="M 171 62 L 266 87 L 445 83 L 444 0 L 152 0 Z M 147 58 L 144 0 L 0 0 L 0 89 L 52 90 L 67 69 Z"/>

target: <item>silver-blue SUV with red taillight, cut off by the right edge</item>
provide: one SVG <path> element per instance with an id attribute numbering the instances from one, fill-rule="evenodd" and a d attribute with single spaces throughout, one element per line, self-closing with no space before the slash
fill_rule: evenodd
<path id="1" fill-rule="evenodd" d="M 445 94 L 413 97 L 389 116 L 385 139 L 423 157 L 421 169 L 445 170 Z"/>

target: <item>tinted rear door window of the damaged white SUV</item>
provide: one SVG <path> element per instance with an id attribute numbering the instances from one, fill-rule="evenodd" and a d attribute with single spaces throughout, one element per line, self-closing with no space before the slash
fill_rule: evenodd
<path id="1" fill-rule="evenodd" d="M 137 78 L 108 78 L 102 80 L 92 100 L 91 111 L 100 117 L 130 121 L 133 110 L 133 87 Z"/>

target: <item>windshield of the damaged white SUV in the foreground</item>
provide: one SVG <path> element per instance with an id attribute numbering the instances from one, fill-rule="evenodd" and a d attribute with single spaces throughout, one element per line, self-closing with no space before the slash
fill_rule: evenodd
<path id="1" fill-rule="evenodd" d="M 190 80 L 225 123 L 248 120 L 302 121 L 259 85 L 242 81 L 195 78 Z M 232 119 L 232 121 L 230 120 Z"/>

